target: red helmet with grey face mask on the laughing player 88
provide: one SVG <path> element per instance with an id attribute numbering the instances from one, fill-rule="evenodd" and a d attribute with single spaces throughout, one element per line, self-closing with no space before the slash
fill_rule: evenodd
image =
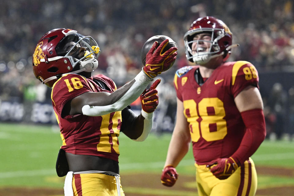
<path id="1" fill-rule="evenodd" d="M 198 33 L 209 32 L 211 33 L 211 40 L 193 40 L 194 36 Z M 201 51 L 198 42 L 210 42 L 209 51 Z M 192 54 L 192 43 L 197 42 L 197 51 Z M 230 53 L 232 47 L 232 33 L 228 26 L 223 21 L 207 16 L 198 18 L 194 21 L 189 28 L 188 32 L 184 35 L 184 44 L 186 57 L 190 62 L 197 64 L 204 64 L 211 58 L 223 55 L 224 57 Z"/>

